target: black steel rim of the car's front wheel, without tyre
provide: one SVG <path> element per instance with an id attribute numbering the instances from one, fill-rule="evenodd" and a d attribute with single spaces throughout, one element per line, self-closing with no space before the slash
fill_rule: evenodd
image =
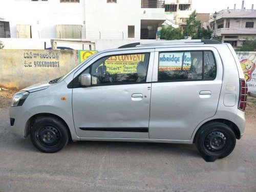
<path id="1" fill-rule="evenodd" d="M 37 142 L 44 147 L 54 147 L 61 139 L 61 134 L 57 127 L 53 125 L 45 125 L 36 132 Z"/>

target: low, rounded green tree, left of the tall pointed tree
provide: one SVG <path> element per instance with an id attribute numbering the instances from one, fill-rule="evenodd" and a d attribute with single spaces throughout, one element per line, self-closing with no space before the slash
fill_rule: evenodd
<path id="1" fill-rule="evenodd" d="M 172 26 L 168 26 L 167 28 L 162 27 L 160 39 L 165 40 L 177 40 L 183 39 L 184 36 L 179 28 L 173 28 Z"/>

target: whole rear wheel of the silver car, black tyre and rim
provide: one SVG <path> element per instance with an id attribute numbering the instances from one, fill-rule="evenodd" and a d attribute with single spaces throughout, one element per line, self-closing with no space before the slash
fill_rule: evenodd
<path id="1" fill-rule="evenodd" d="M 224 158 L 236 146 L 236 135 L 222 122 L 209 122 L 200 128 L 195 143 L 204 157 Z"/>

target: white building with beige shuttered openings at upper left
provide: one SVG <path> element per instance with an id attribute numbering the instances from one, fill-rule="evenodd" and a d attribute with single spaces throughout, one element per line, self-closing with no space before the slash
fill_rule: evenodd
<path id="1" fill-rule="evenodd" d="M 59 38 L 70 31 L 61 31 L 62 25 L 70 25 L 84 37 L 84 2 L 8 0 L 0 4 L 0 17 L 10 23 L 11 38 Z M 74 1 L 76 2 L 76 1 Z M 76 36 L 75 34 L 74 36 Z"/>

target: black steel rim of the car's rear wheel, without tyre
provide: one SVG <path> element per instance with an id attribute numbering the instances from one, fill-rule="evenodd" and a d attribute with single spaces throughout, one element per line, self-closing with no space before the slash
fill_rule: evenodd
<path id="1" fill-rule="evenodd" d="M 203 147 L 211 155 L 219 155 L 227 148 L 227 137 L 219 131 L 210 132 L 203 141 Z"/>

